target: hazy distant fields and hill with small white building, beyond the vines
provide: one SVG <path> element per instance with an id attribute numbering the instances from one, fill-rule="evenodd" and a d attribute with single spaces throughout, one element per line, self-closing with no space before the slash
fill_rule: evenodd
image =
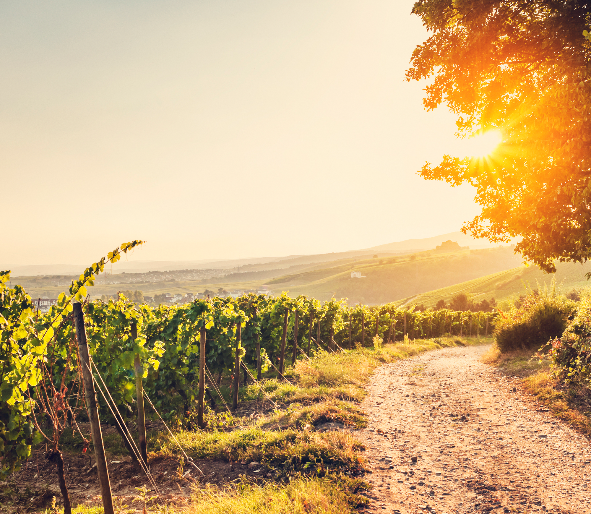
<path id="1" fill-rule="evenodd" d="M 256 290 L 268 285 L 273 294 L 289 291 L 291 297 L 300 294 L 319 300 L 349 298 L 350 304 L 382 304 L 401 300 L 459 282 L 479 278 L 514 268 L 521 262 L 512 249 L 491 248 L 452 253 L 419 252 L 408 255 L 374 254 L 362 258 L 351 257 L 336 261 L 294 265 L 293 268 L 232 273 L 223 278 L 196 281 L 131 282 L 134 274 L 125 274 L 122 284 L 105 284 L 99 278 L 89 293 L 93 297 L 116 294 L 121 289 L 139 289 L 145 295 L 161 293 L 185 294 L 217 291 Z M 259 266 L 259 265 L 257 265 Z M 286 271 L 288 271 L 286 273 Z M 362 278 L 352 278 L 351 272 L 361 272 Z M 110 275 L 121 278 L 121 275 Z M 13 277 L 12 284 L 21 284 L 33 297 L 55 298 L 69 284 L 72 276 Z M 122 279 L 123 280 L 123 279 Z"/>

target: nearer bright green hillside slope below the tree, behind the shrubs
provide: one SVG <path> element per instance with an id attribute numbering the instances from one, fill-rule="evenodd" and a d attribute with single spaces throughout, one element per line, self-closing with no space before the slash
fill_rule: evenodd
<path id="1" fill-rule="evenodd" d="M 434 289 L 420 295 L 404 298 L 400 304 L 416 303 L 425 307 L 433 307 L 439 300 L 449 302 L 454 294 L 466 292 L 472 294 L 479 301 L 495 297 L 496 300 L 509 300 L 524 294 L 527 288 L 537 288 L 551 284 L 554 279 L 558 292 L 566 293 L 573 288 L 587 288 L 591 282 L 587 281 L 585 274 L 591 271 L 591 262 L 583 265 L 572 262 L 561 262 L 556 265 L 556 274 L 548 275 L 535 266 L 518 266 L 491 275 L 482 276 L 460 284 L 450 285 L 440 289 Z"/>

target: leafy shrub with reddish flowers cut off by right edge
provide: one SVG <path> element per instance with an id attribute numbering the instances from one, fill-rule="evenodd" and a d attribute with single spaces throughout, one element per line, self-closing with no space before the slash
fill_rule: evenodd
<path id="1" fill-rule="evenodd" d="M 547 352 L 566 383 L 591 382 L 591 298 L 584 298 L 572 323 L 558 339 L 549 341 Z"/>

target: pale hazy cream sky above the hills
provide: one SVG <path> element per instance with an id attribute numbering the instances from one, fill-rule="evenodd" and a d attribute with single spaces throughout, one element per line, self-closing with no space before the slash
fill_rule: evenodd
<path id="1" fill-rule="evenodd" d="M 458 230 L 402 0 L 0 3 L 0 268 L 344 251 Z"/>

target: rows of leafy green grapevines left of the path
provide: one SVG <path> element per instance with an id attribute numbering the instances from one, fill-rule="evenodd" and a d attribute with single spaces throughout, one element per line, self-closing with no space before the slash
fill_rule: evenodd
<path id="1" fill-rule="evenodd" d="M 35 311 L 22 287 L 8 288 L 9 272 L 0 272 L 2 477 L 17 470 L 31 446 L 42 442 L 51 448 L 47 458 L 58 471 L 61 466 L 63 475 L 59 441 L 66 427 L 79 432 L 83 451 L 90 447 L 77 428 L 89 419 L 84 375 L 90 369 L 83 369 L 79 351 L 81 326 L 92 363 L 87 366 L 101 392 L 98 416 L 117 425 L 125 443 L 121 427 L 143 409 L 142 392 L 165 420 L 197 430 L 206 428 L 204 395 L 213 408 L 236 408 L 249 381 L 285 379 L 288 364 L 317 352 L 368 347 L 382 340 L 488 335 L 494 324 L 492 313 L 349 306 L 334 298 L 321 304 L 285 292 L 156 308 L 134 304 L 123 295 L 116 301 L 89 301 L 86 288 L 105 264 L 141 243 L 124 243 L 87 268 L 45 314 Z M 222 392 L 223 377 L 230 380 L 229 394 Z M 136 452 L 128 449 L 134 458 Z"/>

